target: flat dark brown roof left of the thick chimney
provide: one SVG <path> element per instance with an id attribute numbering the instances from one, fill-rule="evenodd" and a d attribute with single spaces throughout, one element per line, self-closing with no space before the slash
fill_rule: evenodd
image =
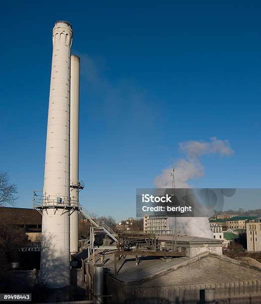
<path id="1" fill-rule="evenodd" d="M 0 207 L 0 222 L 15 225 L 41 225 L 42 216 L 35 209 Z"/>

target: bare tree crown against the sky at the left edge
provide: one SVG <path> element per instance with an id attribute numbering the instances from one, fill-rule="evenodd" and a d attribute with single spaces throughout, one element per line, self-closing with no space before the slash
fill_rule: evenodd
<path id="1" fill-rule="evenodd" d="M 14 205 L 17 200 L 17 187 L 9 182 L 9 176 L 6 172 L 0 171 L 0 206 Z"/>

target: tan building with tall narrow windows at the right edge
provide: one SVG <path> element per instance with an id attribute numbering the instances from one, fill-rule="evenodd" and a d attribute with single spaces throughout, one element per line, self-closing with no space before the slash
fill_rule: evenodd
<path id="1" fill-rule="evenodd" d="M 261 218 L 247 221 L 246 227 L 248 251 L 261 251 Z"/>

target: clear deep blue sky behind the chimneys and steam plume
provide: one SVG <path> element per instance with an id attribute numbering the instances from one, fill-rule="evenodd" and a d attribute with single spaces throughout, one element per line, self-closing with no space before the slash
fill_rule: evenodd
<path id="1" fill-rule="evenodd" d="M 228 140 L 200 156 L 196 187 L 260 187 L 259 1 L 5 1 L 1 5 L 0 170 L 30 208 L 43 186 L 52 28 L 72 23 L 81 64 L 82 204 L 117 220 L 136 213 L 185 156 L 179 144 Z M 254 208 L 240 202 L 229 208 Z"/>

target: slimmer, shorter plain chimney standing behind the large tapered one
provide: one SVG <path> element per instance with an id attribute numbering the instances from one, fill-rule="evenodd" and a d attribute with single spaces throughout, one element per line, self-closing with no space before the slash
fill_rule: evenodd
<path id="1" fill-rule="evenodd" d="M 80 58 L 71 56 L 71 204 L 76 210 L 71 214 L 70 248 L 71 252 L 78 252 L 78 205 L 79 205 L 79 95 L 80 95 Z"/>

